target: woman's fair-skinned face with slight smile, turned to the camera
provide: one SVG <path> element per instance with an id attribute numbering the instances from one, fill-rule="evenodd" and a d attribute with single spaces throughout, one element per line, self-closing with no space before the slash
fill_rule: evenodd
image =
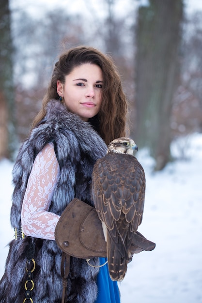
<path id="1" fill-rule="evenodd" d="M 57 81 L 57 92 L 62 96 L 67 109 L 88 121 L 100 110 L 103 75 L 96 64 L 85 63 L 75 67 L 65 76 L 65 83 Z"/>

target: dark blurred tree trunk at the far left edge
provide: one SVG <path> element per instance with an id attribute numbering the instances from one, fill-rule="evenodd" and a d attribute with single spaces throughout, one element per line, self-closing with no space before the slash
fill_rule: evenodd
<path id="1" fill-rule="evenodd" d="M 8 0 L 0 1 L 0 159 L 12 159 L 16 149 L 13 46 Z"/>

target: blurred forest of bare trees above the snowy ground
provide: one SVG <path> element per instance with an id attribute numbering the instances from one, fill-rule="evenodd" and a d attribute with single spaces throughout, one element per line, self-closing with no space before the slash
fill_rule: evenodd
<path id="1" fill-rule="evenodd" d="M 0 2 L 0 158 L 29 134 L 57 56 L 92 45 L 118 65 L 130 136 L 163 169 L 172 141 L 202 131 L 202 11 L 183 0 L 54 2 Z"/>

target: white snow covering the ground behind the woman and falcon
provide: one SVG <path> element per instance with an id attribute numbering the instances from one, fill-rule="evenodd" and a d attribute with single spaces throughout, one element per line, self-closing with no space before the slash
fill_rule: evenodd
<path id="1" fill-rule="evenodd" d="M 146 174 L 139 231 L 156 247 L 128 264 L 120 283 L 122 303 L 202 303 L 202 135 L 178 140 L 171 150 L 186 159 L 155 173 L 147 152 L 137 154 Z M 0 277 L 6 245 L 14 236 L 9 221 L 12 168 L 13 163 L 0 162 Z"/>

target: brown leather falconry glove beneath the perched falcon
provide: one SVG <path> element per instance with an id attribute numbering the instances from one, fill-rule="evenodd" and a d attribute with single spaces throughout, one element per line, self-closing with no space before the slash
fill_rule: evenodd
<path id="1" fill-rule="evenodd" d="M 55 240 L 62 251 L 72 257 L 107 257 L 102 223 L 97 212 L 78 198 L 73 199 L 62 212 L 55 229 Z M 131 254 L 154 248 L 154 242 L 147 240 L 138 231 L 134 233 Z"/>

